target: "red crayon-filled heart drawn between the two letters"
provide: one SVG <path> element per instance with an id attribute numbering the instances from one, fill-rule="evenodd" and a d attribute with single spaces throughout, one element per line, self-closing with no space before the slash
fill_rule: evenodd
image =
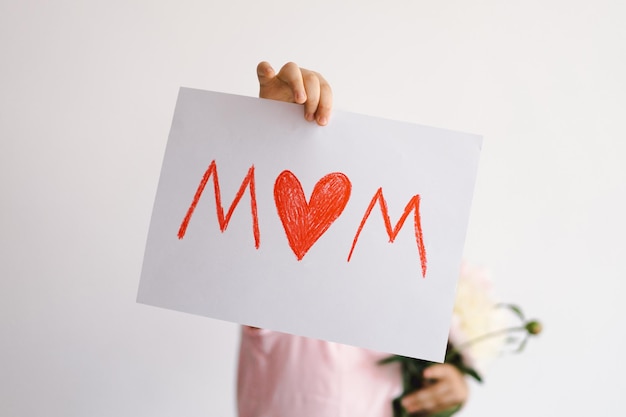
<path id="1" fill-rule="evenodd" d="M 302 260 L 309 249 L 341 215 L 352 184 L 345 174 L 333 172 L 320 179 L 307 203 L 302 184 L 290 171 L 274 183 L 274 201 L 291 250 Z"/>

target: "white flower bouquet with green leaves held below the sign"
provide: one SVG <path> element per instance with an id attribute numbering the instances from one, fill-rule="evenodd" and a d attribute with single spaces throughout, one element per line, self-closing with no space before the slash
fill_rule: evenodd
<path id="1" fill-rule="evenodd" d="M 510 325 L 511 317 L 518 323 Z M 521 352 L 529 337 L 540 332 L 541 323 L 526 320 L 519 307 L 496 302 L 485 271 L 463 265 L 457 285 L 445 363 L 482 382 L 481 374 L 485 365 L 502 352 L 505 346 L 513 345 L 516 352 Z M 392 362 L 400 363 L 403 380 L 402 395 L 393 402 L 394 417 L 409 417 L 400 403 L 401 398 L 428 383 L 423 372 L 434 362 L 394 355 L 380 363 Z M 433 417 L 449 417 L 460 408 L 458 406 Z"/>

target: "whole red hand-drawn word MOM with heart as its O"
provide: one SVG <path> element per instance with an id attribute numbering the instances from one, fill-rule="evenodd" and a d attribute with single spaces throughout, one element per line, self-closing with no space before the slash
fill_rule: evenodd
<path id="1" fill-rule="evenodd" d="M 187 231 L 189 221 L 193 216 L 194 210 L 204 192 L 204 189 L 213 178 L 213 192 L 215 196 L 215 206 L 217 211 L 217 221 L 222 233 L 228 228 L 230 218 L 243 197 L 246 188 L 250 193 L 250 209 L 252 213 L 252 233 L 254 235 L 255 247 L 258 249 L 261 242 L 261 233 L 259 231 L 259 218 L 257 214 L 256 187 L 254 181 L 254 165 L 250 167 L 248 173 L 244 177 L 235 199 L 231 203 L 226 214 L 222 206 L 222 196 L 220 192 L 220 182 L 217 174 L 217 164 L 213 160 L 206 172 L 200 180 L 200 184 L 193 197 L 191 205 L 185 214 L 185 217 L 178 229 L 178 238 L 183 239 Z M 274 202 L 276 211 L 282 222 L 287 241 L 291 250 L 296 255 L 298 261 L 304 258 L 304 255 L 317 242 L 317 240 L 328 230 L 333 222 L 341 215 L 350 199 L 352 184 L 348 177 L 340 172 L 333 172 L 321 178 L 311 193 L 311 198 L 307 201 L 302 189 L 302 184 L 298 178 L 290 171 L 283 171 L 276 178 L 274 183 Z M 404 208 L 404 213 L 396 223 L 395 227 L 391 226 L 389 212 L 387 210 L 387 202 L 383 196 L 382 187 L 379 188 L 372 197 L 369 206 L 365 210 L 363 219 L 356 231 L 352 241 L 352 247 L 348 254 L 347 262 L 350 262 L 354 248 L 359 240 L 359 235 L 365 226 L 365 222 L 369 218 L 374 206 L 378 203 L 380 211 L 385 223 L 385 229 L 389 236 L 389 242 L 393 243 L 402 229 L 405 220 L 413 211 L 415 242 L 422 266 L 422 277 L 426 277 L 427 259 L 426 248 L 424 247 L 424 239 L 422 235 L 422 224 L 420 218 L 420 196 L 419 194 L 411 197 Z"/>

